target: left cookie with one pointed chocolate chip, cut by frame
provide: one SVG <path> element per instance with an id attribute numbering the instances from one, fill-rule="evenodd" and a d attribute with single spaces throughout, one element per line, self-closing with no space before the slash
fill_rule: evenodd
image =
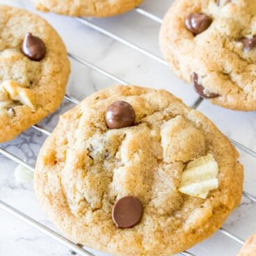
<path id="1" fill-rule="evenodd" d="M 53 113 L 70 74 L 65 45 L 41 17 L 0 6 L 0 143 Z"/>

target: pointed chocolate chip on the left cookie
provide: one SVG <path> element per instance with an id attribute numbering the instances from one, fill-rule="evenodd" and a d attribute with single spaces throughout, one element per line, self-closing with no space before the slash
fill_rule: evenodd
<path id="1" fill-rule="evenodd" d="M 22 43 L 22 53 L 31 61 L 41 61 L 45 58 L 45 43 L 40 38 L 27 33 Z"/>

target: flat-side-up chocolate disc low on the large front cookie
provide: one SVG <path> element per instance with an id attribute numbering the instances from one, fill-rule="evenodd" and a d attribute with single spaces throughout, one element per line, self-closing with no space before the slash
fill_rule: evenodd
<path id="1" fill-rule="evenodd" d="M 119 228 L 134 227 L 141 221 L 143 206 L 134 196 L 127 195 L 120 198 L 112 210 L 112 220 Z"/>

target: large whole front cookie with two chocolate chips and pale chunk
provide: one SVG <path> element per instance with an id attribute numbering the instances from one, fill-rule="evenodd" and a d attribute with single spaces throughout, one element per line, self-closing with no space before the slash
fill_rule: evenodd
<path id="1" fill-rule="evenodd" d="M 34 188 L 73 241 L 113 255 L 172 255 L 239 204 L 238 157 L 211 121 L 165 90 L 114 86 L 61 116 Z"/>

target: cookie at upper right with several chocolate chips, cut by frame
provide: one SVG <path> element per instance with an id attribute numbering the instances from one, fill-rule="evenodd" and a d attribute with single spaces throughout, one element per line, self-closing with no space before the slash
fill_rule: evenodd
<path id="1" fill-rule="evenodd" d="M 161 50 L 170 68 L 202 97 L 255 111 L 255 24 L 256 1 L 175 1 L 161 27 Z"/>

